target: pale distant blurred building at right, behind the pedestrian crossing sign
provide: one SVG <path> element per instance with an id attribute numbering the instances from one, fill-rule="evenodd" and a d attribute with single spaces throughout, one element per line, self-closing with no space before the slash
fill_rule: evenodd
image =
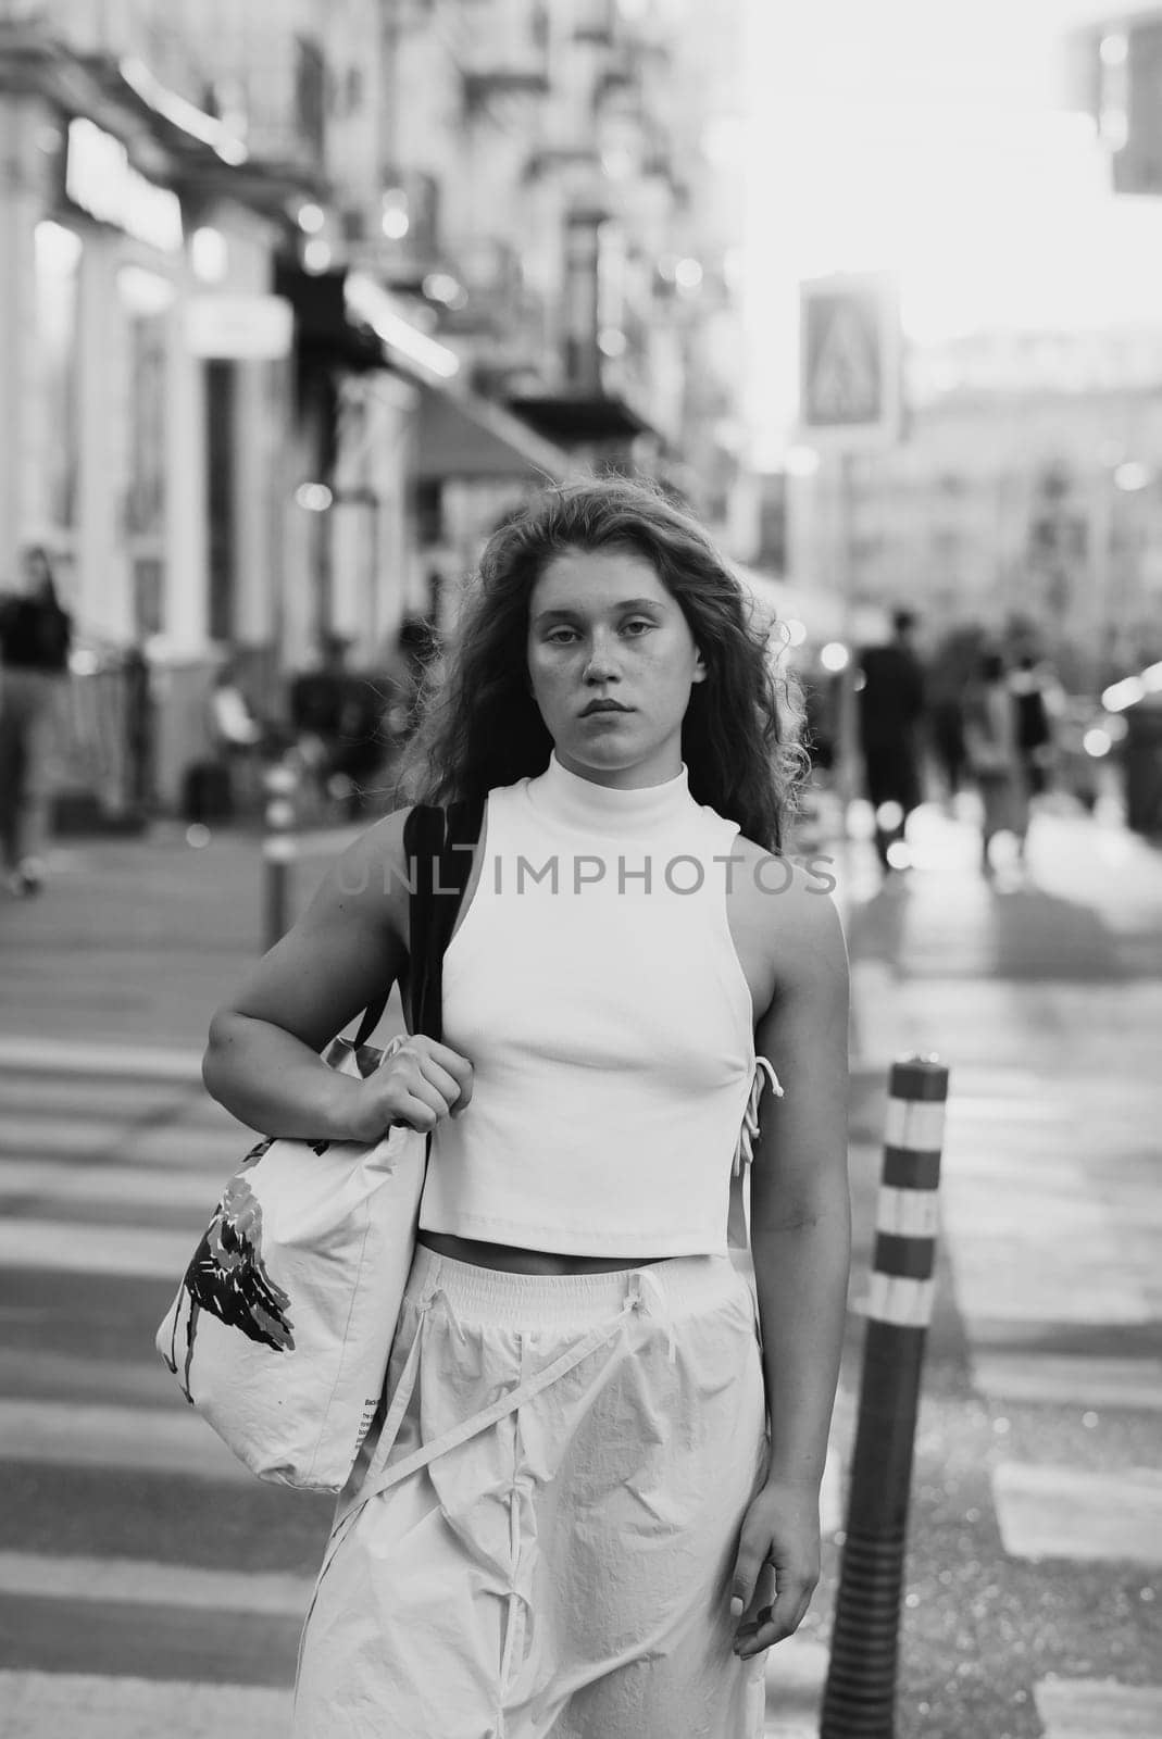
<path id="1" fill-rule="evenodd" d="M 793 576 L 915 609 L 925 635 L 1026 621 L 1079 687 L 1162 652 L 1162 329 L 915 351 L 906 440 L 788 480 Z M 845 527 L 847 544 L 840 548 Z"/>

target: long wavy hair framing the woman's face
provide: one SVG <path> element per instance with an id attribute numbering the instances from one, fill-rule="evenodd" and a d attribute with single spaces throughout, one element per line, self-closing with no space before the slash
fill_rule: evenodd
<path id="1" fill-rule="evenodd" d="M 529 600 L 551 560 L 593 550 L 644 556 L 703 654 L 706 682 L 682 723 L 691 796 L 781 850 L 807 767 L 798 685 L 778 670 L 771 633 L 698 520 L 626 478 L 550 489 L 492 534 L 444 675 L 423 696 L 400 796 L 482 798 L 544 772 L 553 743 L 529 690 Z"/>

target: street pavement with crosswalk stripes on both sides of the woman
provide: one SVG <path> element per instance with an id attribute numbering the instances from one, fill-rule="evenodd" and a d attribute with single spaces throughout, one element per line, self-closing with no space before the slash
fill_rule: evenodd
<path id="1" fill-rule="evenodd" d="M 310 843 L 296 899 L 337 836 Z M 941 1263 L 901 1628 L 899 1739 L 1162 1730 L 1162 863 L 1035 824 L 988 885 L 971 817 L 851 849 L 858 1257 L 826 1572 L 769 1661 L 771 1739 L 816 1708 L 851 1452 L 887 1068 L 952 1069 Z M 329 1499 L 252 1482 L 153 1353 L 247 1136 L 198 1085 L 261 946 L 257 842 L 78 843 L 0 904 L 0 1739 L 285 1732 Z"/>

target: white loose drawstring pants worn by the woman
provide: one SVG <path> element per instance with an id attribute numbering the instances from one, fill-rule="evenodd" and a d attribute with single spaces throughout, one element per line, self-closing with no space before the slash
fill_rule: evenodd
<path id="1" fill-rule="evenodd" d="M 294 1739 L 758 1739 L 729 1600 L 765 1410 L 727 1257 L 541 1276 L 419 1247 L 386 1395 Z"/>

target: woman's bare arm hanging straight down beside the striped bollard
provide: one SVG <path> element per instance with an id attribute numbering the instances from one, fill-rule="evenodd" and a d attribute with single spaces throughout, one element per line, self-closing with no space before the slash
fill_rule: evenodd
<path id="1" fill-rule="evenodd" d="M 767 1099 L 751 1165 L 751 1252 L 762 1323 L 771 1466 L 746 1516 L 734 1577 L 743 1656 L 790 1636 L 819 1579 L 819 1483 L 847 1311 L 847 951 L 831 899 L 797 882 L 779 897 L 776 991 L 757 1050 Z M 757 1598 L 774 1569 L 778 1598 Z M 767 1577 L 769 1581 L 769 1577 Z"/>

